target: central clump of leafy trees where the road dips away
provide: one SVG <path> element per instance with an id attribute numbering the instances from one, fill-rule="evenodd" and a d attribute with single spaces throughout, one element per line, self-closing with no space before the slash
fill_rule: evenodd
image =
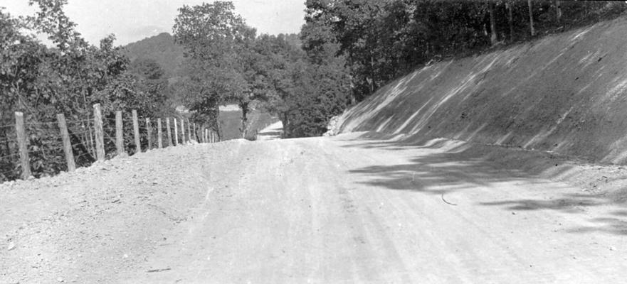
<path id="1" fill-rule="evenodd" d="M 316 136 L 347 106 L 350 80 L 338 45 L 308 56 L 296 35 L 255 35 L 233 12 L 231 2 L 183 6 L 174 37 L 186 52 L 186 76 L 177 88 L 201 124 L 218 130 L 218 105 L 242 109 L 241 135 L 248 113 L 263 107 L 278 114 L 288 137 Z"/>

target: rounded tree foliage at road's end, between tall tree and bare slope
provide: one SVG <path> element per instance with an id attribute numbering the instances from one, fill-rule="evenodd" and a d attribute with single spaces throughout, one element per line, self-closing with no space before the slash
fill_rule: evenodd
<path id="1" fill-rule="evenodd" d="M 321 49 L 312 58 L 294 45 L 295 35 L 262 35 L 256 45 L 260 54 L 260 89 L 266 108 L 283 121 L 286 137 L 319 136 L 327 121 L 349 104 L 350 78 L 343 58 Z M 326 50 L 326 54 L 325 54 Z"/>

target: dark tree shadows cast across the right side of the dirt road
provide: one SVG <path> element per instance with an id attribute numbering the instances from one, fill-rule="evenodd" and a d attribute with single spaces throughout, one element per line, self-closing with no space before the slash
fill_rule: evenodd
<path id="1" fill-rule="evenodd" d="M 380 139 L 380 137 L 379 137 Z M 477 205 L 499 207 L 507 211 L 556 210 L 570 214 L 584 214 L 587 207 L 625 204 L 626 188 L 613 189 L 613 194 L 595 191 L 595 182 L 608 182 L 608 178 L 586 184 L 586 190 L 573 193 L 572 187 L 562 182 L 552 182 L 564 175 L 575 164 L 566 164 L 566 158 L 552 153 L 525 151 L 520 148 L 470 145 L 435 139 L 423 145 L 374 140 L 371 134 L 358 138 L 363 143 L 347 145 L 349 148 L 379 148 L 388 151 L 423 151 L 410 158 L 410 163 L 399 165 L 376 165 L 349 170 L 349 173 L 364 175 L 363 184 L 390 190 L 409 190 L 427 195 L 446 195 L 460 190 L 483 187 L 505 190 L 508 186 L 540 185 L 552 188 L 557 196 L 552 199 L 525 198 L 480 202 Z M 437 150 L 437 151 L 436 151 Z M 416 153 L 416 152 L 411 152 Z M 414 154 L 412 154 L 414 155 Z M 599 174 L 600 175 L 600 174 Z M 627 176 L 613 177 L 613 180 Z M 557 186 L 557 188 L 556 188 Z M 563 188 L 559 188 L 563 186 Z M 561 193 L 563 192 L 563 193 Z M 627 235 L 627 210 L 608 211 L 608 217 L 590 219 L 597 226 L 569 229 L 573 233 L 601 231 Z"/>

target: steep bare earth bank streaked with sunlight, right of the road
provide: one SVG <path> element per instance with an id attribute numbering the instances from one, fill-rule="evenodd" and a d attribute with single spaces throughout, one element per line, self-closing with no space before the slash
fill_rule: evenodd
<path id="1" fill-rule="evenodd" d="M 627 18 L 438 62 L 347 111 L 342 132 L 443 137 L 627 163 Z"/>

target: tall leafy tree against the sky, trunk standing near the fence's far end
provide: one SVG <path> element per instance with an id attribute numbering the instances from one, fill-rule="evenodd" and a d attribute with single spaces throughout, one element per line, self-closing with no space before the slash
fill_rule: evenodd
<path id="1" fill-rule="evenodd" d="M 255 29 L 246 25 L 229 1 L 183 6 L 174 24 L 174 38 L 185 48 L 189 84 L 199 84 L 187 94 L 190 109 L 213 112 L 218 104 L 236 102 L 242 109 L 242 137 L 247 114 L 257 99 L 254 91 Z M 216 92 L 217 91 L 217 92 Z M 216 96 L 216 97 L 212 97 Z M 211 102 L 214 106 L 206 106 Z M 198 107 L 195 104 L 202 104 Z M 207 116 L 211 114 L 207 113 Z"/>

